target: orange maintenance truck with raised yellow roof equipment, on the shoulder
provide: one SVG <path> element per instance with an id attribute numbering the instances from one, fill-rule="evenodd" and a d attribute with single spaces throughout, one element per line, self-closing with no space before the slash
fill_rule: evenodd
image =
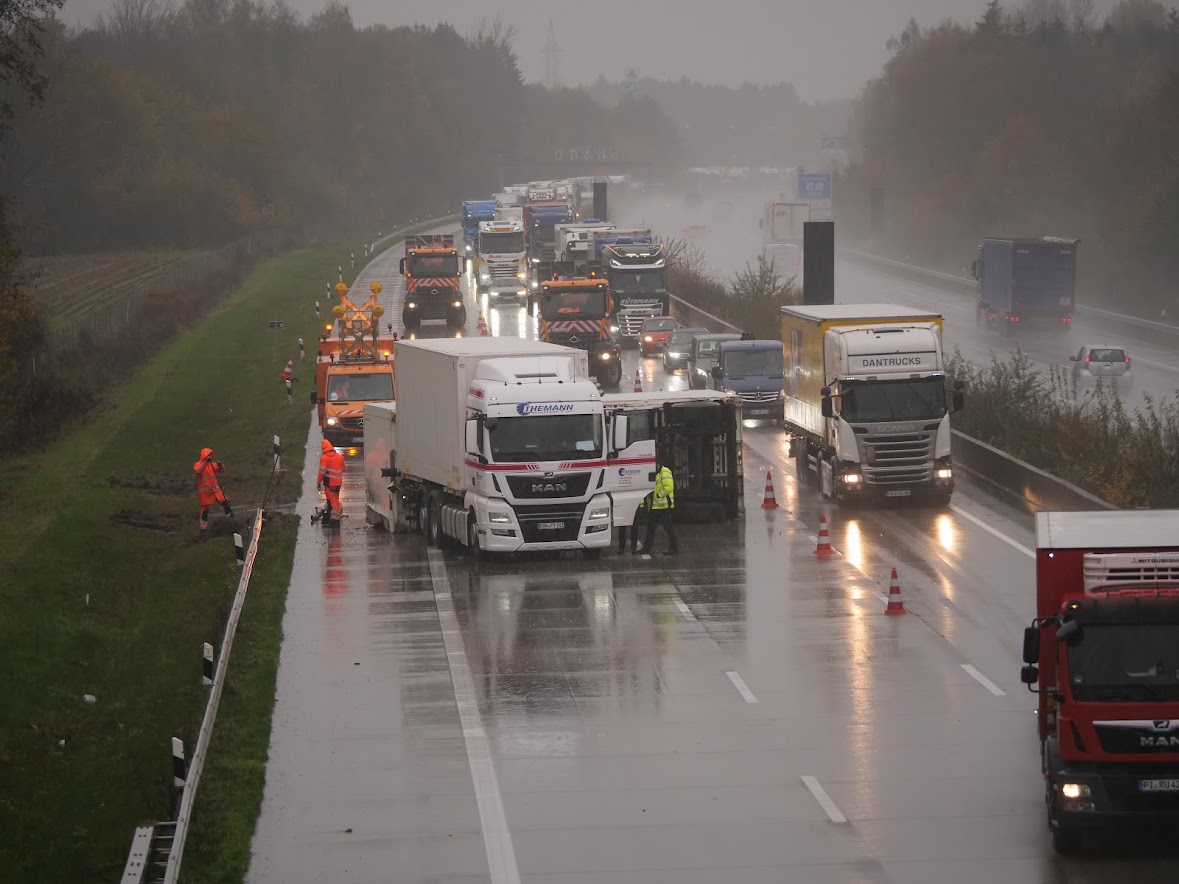
<path id="1" fill-rule="evenodd" d="M 365 402 L 394 401 L 393 341 L 380 339 L 384 308 L 376 298 L 381 283 L 373 283 L 369 290 L 371 297 L 357 308 L 348 298 L 348 286 L 336 285 L 340 303 L 331 308 L 335 321 L 324 326 L 315 361 L 311 404 L 320 409 L 323 437 L 337 448 L 363 444 Z"/>

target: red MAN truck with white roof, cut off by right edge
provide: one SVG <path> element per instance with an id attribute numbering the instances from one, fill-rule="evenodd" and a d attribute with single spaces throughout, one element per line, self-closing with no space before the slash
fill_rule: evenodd
<path id="1" fill-rule="evenodd" d="M 1021 680 L 1054 847 L 1179 822 L 1179 510 L 1038 513 L 1035 535 Z"/>

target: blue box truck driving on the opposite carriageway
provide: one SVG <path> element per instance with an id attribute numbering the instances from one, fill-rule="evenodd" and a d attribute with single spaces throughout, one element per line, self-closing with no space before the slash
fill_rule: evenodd
<path id="1" fill-rule="evenodd" d="M 1068 331 L 1076 309 L 1079 239 L 984 239 L 970 264 L 977 281 L 975 319 L 1003 336 Z"/>

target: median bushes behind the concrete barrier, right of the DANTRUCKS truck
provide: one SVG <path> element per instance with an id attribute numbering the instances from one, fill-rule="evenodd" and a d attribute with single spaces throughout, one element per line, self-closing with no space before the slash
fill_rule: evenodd
<path id="1" fill-rule="evenodd" d="M 1016 351 L 975 365 L 955 351 L 948 374 L 966 381 L 954 427 L 1118 507 L 1179 506 L 1179 404 L 1079 389 L 1067 369 L 1045 374 Z"/>

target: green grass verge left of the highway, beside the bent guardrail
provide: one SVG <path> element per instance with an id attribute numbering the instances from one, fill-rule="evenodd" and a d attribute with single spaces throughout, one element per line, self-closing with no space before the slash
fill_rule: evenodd
<path id="1" fill-rule="evenodd" d="M 0 464 L 6 884 L 117 880 L 134 826 L 172 814 L 170 739 L 195 745 L 200 645 L 219 642 L 238 575 L 228 526 L 198 539 L 191 464 L 212 446 L 244 514 L 277 434 L 292 470 L 277 499 L 297 496 L 312 372 L 304 365 L 294 405 L 277 376 L 296 338 L 314 339 L 312 301 L 348 251 L 264 263 L 81 429 Z M 277 356 L 269 319 L 286 323 Z M 125 512 L 159 529 L 112 521 Z M 294 520 L 271 519 L 263 536 L 189 853 L 211 877 L 190 880 L 241 875 L 261 803 Z"/>

